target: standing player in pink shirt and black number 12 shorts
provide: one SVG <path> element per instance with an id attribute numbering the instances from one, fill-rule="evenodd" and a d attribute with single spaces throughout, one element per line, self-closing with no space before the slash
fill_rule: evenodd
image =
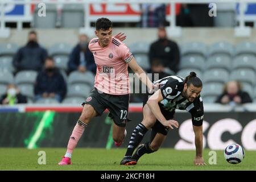
<path id="1" fill-rule="evenodd" d="M 126 136 L 125 127 L 130 98 L 128 66 L 148 88 L 154 89 L 154 85 L 136 63 L 129 48 L 112 37 L 112 22 L 109 19 L 97 19 L 95 34 L 97 38 L 92 39 L 88 46 L 97 65 L 94 89 L 82 104 L 84 106 L 82 114 L 73 129 L 67 152 L 59 165 L 72 164 L 72 152 L 84 133 L 85 127 L 92 118 L 101 115 L 105 109 L 110 111 L 109 117 L 114 121 L 115 146 L 123 143 Z"/>

